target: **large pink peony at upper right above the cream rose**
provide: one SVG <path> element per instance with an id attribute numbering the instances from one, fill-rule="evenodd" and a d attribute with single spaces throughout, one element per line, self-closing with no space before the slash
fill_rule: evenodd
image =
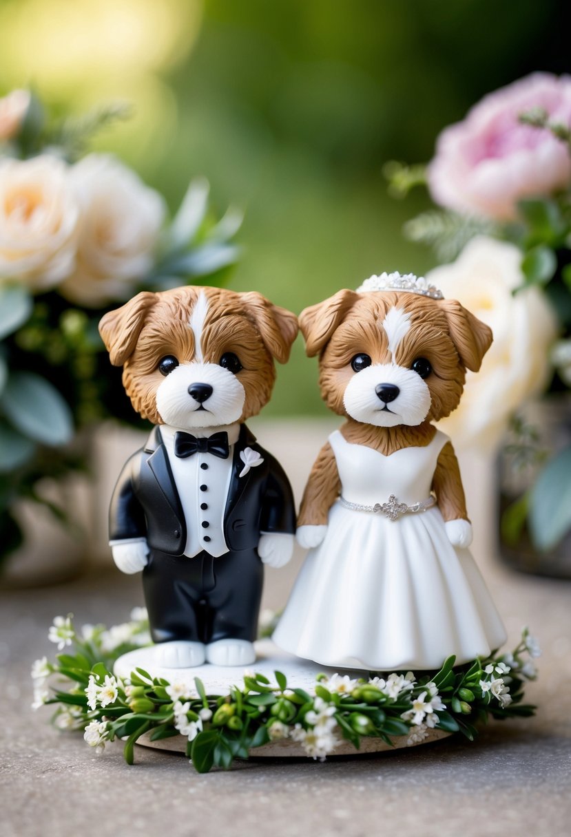
<path id="1" fill-rule="evenodd" d="M 571 76 L 534 73 L 484 97 L 463 122 L 442 131 L 429 167 L 436 203 L 500 220 L 517 216 L 520 198 L 567 186 L 571 159 L 550 131 L 522 125 L 520 114 L 541 108 L 571 126 Z"/>

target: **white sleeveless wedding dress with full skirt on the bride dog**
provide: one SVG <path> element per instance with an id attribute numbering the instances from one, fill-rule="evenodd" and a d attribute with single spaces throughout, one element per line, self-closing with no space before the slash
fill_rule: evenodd
<path id="1" fill-rule="evenodd" d="M 384 456 L 329 437 L 342 497 L 359 506 L 390 495 L 412 506 L 430 497 L 448 441 Z M 453 547 L 437 506 L 392 521 L 337 500 L 327 534 L 307 553 L 275 629 L 280 648 L 316 663 L 377 671 L 437 669 L 486 656 L 506 641 L 502 620 L 467 549 Z"/>

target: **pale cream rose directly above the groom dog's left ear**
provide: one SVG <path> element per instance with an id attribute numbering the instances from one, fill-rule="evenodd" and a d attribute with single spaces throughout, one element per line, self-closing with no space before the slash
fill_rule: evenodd
<path id="1" fill-rule="evenodd" d="M 91 154 L 70 171 L 80 207 L 77 264 L 59 289 L 73 302 L 126 300 L 153 264 L 162 197 L 113 157 Z"/>

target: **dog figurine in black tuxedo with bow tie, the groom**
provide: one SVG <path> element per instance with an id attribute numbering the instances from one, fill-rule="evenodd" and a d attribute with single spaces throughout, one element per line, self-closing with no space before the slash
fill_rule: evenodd
<path id="1" fill-rule="evenodd" d="M 270 400 L 297 319 L 258 293 L 143 291 L 100 334 L 142 418 L 156 425 L 121 471 L 110 545 L 142 571 L 157 665 L 249 665 L 263 564 L 289 561 L 291 486 L 244 421 Z"/>

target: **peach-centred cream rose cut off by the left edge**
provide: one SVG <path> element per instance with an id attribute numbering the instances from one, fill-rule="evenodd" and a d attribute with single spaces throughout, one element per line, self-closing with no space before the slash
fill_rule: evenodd
<path id="1" fill-rule="evenodd" d="M 64 162 L 0 160 L 0 280 L 46 290 L 75 264 L 79 207 Z"/>

